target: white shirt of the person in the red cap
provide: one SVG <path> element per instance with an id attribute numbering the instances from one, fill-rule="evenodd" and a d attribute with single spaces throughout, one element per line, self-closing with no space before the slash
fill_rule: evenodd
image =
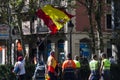
<path id="1" fill-rule="evenodd" d="M 16 62 L 14 67 L 17 67 L 17 66 L 20 68 L 20 72 L 18 72 L 17 75 L 25 74 L 25 59 L 23 59 L 22 61 Z"/>

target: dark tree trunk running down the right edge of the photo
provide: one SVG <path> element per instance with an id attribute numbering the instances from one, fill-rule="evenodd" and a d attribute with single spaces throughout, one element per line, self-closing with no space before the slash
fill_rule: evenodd
<path id="1" fill-rule="evenodd" d="M 117 55 L 118 63 L 120 62 L 120 1 L 119 0 L 112 0 L 112 45 L 116 47 L 113 49 L 113 53 Z"/>

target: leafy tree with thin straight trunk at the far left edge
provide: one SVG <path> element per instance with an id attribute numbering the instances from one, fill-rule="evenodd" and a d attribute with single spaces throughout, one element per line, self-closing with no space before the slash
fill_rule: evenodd
<path id="1" fill-rule="evenodd" d="M 0 5 L 0 24 L 5 24 L 9 26 L 9 39 L 7 39 L 7 57 L 8 57 L 8 62 L 9 64 L 11 64 L 11 34 L 10 34 L 10 30 L 11 30 L 11 14 L 10 14 L 10 7 L 9 7 L 9 0 L 4 0 L 4 1 L 0 1 L 1 5 Z"/>

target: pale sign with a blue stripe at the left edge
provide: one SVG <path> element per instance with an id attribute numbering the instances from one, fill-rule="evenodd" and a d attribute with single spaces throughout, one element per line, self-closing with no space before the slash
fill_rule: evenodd
<path id="1" fill-rule="evenodd" d="M 9 26 L 6 24 L 0 24 L 0 39 L 9 38 Z"/>

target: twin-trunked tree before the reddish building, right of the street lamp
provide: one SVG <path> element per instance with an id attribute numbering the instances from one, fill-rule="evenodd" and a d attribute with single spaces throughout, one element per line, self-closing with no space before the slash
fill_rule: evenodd
<path id="1" fill-rule="evenodd" d="M 103 35 L 101 28 L 101 18 L 103 16 L 103 3 L 104 0 L 76 0 L 83 6 L 85 6 L 88 13 L 88 18 L 90 22 L 90 34 L 92 37 L 92 50 L 95 53 L 95 32 L 97 32 L 97 43 L 98 43 L 98 52 L 99 54 L 103 51 Z"/>

